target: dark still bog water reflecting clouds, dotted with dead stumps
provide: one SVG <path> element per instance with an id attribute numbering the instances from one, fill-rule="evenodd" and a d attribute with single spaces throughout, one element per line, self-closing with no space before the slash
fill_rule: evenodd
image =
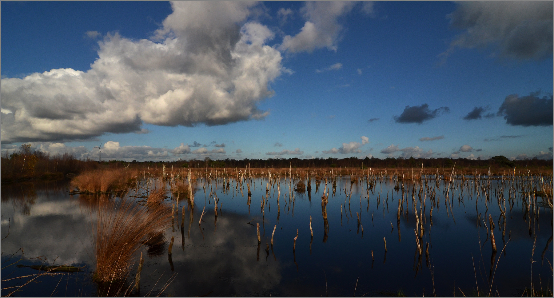
<path id="1" fill-rule="evenodd" d="M 522 192 L 521 186 L 530 183 L 524 178 L 516 177 L 519 184 L 507 178 L 428 179 L 400 182 L 396 189 L 393 180 L 372 179 L 368 189 L 366 179 L 337 177 L 335 192 L 330 180 L 324 207 L 325 182 L 316 189 L 313 178 L 311 191 L 302 193 L 294 191 L 298 180 L 270 183 L 269 192 L 266 178 L 245 179 L 242 191 L 234 179 L 228 189 L 223 179 L 199 180 L 192 223 L 182 199 L 165 243 L 139 249 L 145 256 L 140 292 L 129 292 L 475 296 L 479 291 L 527 296 L 531 289 L 535 295 L 541 288 L 552 289 L 552 208 L 546 199 Z M 2 295 L 14 290 L 14 296 L 117 294 L 92 281 L 95 198 L 70 196 L 68 190 L 67 182 L 2 186 Z M 53 264 L 82 271 L 38 276 L 40 271 L 28 267 Z M 137 265 L 132 268 L 119 287 L 132 287 Z"/>

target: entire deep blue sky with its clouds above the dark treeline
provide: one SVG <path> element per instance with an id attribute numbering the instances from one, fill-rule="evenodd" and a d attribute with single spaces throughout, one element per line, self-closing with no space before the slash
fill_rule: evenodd
<path id="1" fill-rule="evenodd" d="M 552 73 L 552 2 L 2 2 L 2 151 L 552 158 Z"/>

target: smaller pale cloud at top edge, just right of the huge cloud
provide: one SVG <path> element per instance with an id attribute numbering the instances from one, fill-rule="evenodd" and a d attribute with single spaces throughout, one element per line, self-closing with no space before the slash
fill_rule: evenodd
<path id="1" fill-rule="evenodd" d="M 336 51 L 343 30 L 337 19 L 352 11 L 354 5 L 348 1 L 306 2 L 301 9 L 306 19 L 304 27 L 294 37 L 286 35 L 279 49 L 291 53 L 311 53 L 321 48 Z"/>

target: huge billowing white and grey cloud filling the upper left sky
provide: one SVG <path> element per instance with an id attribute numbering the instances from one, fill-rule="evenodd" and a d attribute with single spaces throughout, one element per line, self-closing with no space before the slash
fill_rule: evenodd
<path id="1" fill-rule="evenodd" d="M 250 2 L 173 2 L 151 40 L 108 34 L 88 71 L 2 79 L 2 143 L 141 132 L 142 123 L 223 125 L 262 119 L 257 104 L 283 66 Z"/>

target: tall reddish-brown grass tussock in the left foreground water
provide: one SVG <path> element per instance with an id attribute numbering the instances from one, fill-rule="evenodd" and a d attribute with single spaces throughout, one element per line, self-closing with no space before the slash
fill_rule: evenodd
<path id="1" fill-rule="evenodd" d="M 122 198 L 119 203 L 100 204 L 93 237 L 96 259 L 93 279 L 98 282 L 126 279 L 139 245 L 163 233 L 170 222 L 171 209 L 163 203 L 145 207 Z"/>

